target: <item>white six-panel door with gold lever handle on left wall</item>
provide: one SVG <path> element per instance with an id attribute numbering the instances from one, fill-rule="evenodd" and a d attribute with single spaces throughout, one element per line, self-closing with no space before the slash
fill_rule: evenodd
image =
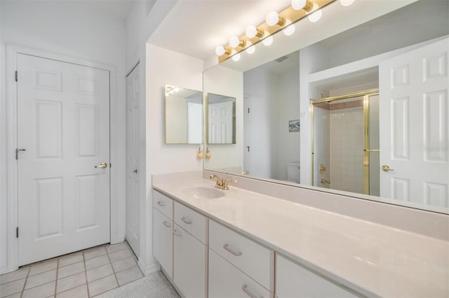
<path id="1" fill-rule="evenodd" d="M 24 265 L 109 242 L 109 71 L 22 54 L 17 63 Z"/>

